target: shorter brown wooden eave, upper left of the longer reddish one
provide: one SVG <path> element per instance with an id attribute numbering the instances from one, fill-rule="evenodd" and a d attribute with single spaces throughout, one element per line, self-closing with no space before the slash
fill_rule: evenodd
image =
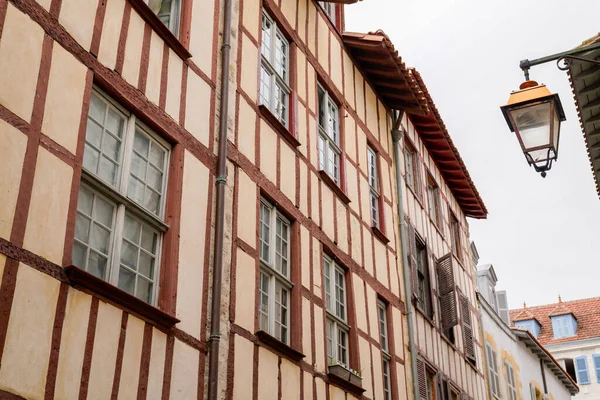
<path id="1" fill-rule="evenodd" d="M 416 115 L 429 113 L 419 85 L 383 31 L 345 32 L 342 36 L 352 59 L 388 107 Z"/>

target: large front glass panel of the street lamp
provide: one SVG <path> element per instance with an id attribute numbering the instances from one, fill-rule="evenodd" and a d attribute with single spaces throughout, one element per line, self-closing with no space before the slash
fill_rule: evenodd
<path id="1" fill-rule="evenodd" d="M 552 103 L 544 102 L 510 111 L 515 130 L 523 142 L 523 150 L 550 146 Z"/>

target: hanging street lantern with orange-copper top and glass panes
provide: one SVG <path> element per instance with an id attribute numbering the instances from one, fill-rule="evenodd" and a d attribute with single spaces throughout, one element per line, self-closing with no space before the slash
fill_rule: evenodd
<path id="1" fill-rule="evenodd" d="M 557 94 L 546 85 L 525 81 L 500 107 L 511 132 L 517 135 L 529 165 L 546 177 L 552 161 L 558 158 L 560 123 L 565 112 Z"/>

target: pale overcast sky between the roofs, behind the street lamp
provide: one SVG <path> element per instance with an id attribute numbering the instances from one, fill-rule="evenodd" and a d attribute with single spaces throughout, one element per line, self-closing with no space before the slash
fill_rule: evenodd
<path id="1" fill-rule="evenodd" d="M 600 200 L 566 72 L 531 78 L 558 92 L 558 162 L 542 179 L 527 165 L 499 107 L 523 81 L 521 59 L 579 45 L 600 31 L 597 0 L 364 0 L 346 7 L 346 30 L 383 29 L 414 66 L 485 202 L 469 220 L 480 263 L 492 263 L 512 308 L 600 296 Z"/>

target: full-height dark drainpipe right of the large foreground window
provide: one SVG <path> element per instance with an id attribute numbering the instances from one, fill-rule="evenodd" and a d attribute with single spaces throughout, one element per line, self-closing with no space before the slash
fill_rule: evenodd
<path id="1" fill-rule="evenodd" d="M 221 289 L 223 281 L 223 241 L 225 225 L 225 185 L 227 183 L 227 129 L 229 114 L 229 59 L 231 52 L 231 6 L 225 0 L 223 45 L 221 46 L 221 102 L 219 104 L 219 155 L 217 161 L 217 206 L 213 258 L 212 308 L 208 361 L 208 400 L 217 400 L 219 378 L 219 342 L 221 341 Z"/>

